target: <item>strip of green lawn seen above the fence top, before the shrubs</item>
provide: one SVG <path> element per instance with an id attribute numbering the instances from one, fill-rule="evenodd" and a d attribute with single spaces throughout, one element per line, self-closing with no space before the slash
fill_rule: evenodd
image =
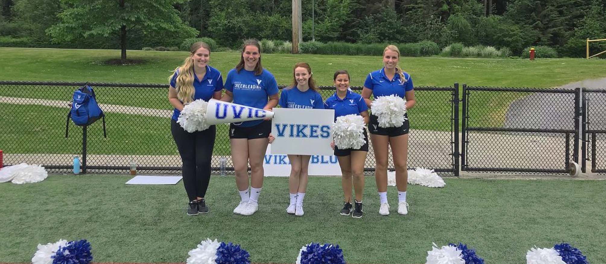
<path id="1" fill-rule="evenodd" d="M 0 48 L 0 80 L 89 81 L 167 84 L 171 70 L 181 65 L 185 51 L 129 50 L 129 59 L 140 65 L 103 65 L 119 58 L 119 50 L 70 50 L 52 48 Z M 212 53 L 211 62 L 224 75 L 238 64 L 239 53 Z M 351 85 L 361 86 L 370 71 L 382 67 L 378 56 L 332 56 L 316 54 L 262 54 L 265 68 L 278 84 L 290 84 L 292 67 L 304 61 L 311 65 L 319 85 L 332 85 L 336 70 L 350 71 Z M 451 86 L 454 82 L 498 87 L 555 87 L 606 75 L 604 59 L 470 59 L 402 58 L 402 68 L 416 86 Z"/>

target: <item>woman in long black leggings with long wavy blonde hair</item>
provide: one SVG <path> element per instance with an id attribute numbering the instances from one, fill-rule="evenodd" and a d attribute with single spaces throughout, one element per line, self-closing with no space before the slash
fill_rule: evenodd
<path id="1" fill-rule="evenodd" d="M 190 55 L 185 58 L 183 65 L 175 69 L 168 78 L 168 102 L 175 111 L 170 120 L 170 131 L 181 156 L 183 185 L 188 196 L 188 216 L 208 213 L 204 196 L 210 181 L 210 160 L 215 147 L 215 126 L 207 130 L 189 133 L 179 124 L 177 119 L 184 104 L 198 99 L 208 101 L 211 98 L 220 99 L 223 89 L 221 72 L 208 66 L 210 47 L 204 42 L 191 45 Z"/>

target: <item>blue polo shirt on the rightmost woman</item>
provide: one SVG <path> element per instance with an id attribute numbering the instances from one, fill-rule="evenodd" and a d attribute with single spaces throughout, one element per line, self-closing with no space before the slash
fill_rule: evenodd
<path id="1" fill-rule="evenodd" d="M 364 87 L 373 90 L 375 98 L 391 94 L 405 98 L 406 92 L 413 90 L 413 79 L 410 78 L 410 74 L 403 72 L 404 80 L 402 81 L 400 80 L 400 74 L 396 73 L 393 80 L 390 80 L 385 76 L 384 71 L 385 68 L 382 68 L 369 73 L 364 82 Z"/>

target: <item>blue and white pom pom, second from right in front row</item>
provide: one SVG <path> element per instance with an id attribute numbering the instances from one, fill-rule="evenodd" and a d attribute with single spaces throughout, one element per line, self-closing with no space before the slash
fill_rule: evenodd
<path id="1" fill-rule="evenodd" d="M 468 249 L 462 243 L 441 248 L 433 243 L 431 251 L 427 251 L 426 260 L 425 264 L 484 264 L 484 259 L 478 257 L 474 249 Z"/>

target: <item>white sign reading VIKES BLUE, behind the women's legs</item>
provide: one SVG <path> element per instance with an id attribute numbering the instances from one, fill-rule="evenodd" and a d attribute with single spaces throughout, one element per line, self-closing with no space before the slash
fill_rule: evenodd
<path id="1" fill-rule="evenodd" d="M 263 159 L 263 170 L 265 176 L 290 176 L 290 161 L 287 155 L 271 154 L 271 145 L 267 146 Z M 311 176 L 341 176 L 339 161 L 334 155 L 319 156 L 312 155 L 309 160 L 308 174 Z"/>

